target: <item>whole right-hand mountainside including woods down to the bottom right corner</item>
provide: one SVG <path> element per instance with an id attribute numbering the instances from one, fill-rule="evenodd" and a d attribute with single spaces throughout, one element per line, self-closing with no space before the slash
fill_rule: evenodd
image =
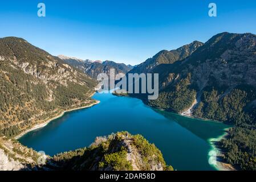
<path id="1" fill-rule="evenodd" d="M 132 97 L 233 125 L 220 142 L 225 159 L 238 169 L 256 170 L 256 35 L 217 34 L 186 59 L 157 65 L 150 73 L 159 73 L 159 98 Z"/>

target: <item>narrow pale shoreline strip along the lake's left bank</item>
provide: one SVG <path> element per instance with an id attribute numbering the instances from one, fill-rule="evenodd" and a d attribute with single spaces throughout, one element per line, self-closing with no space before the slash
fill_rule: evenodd
<path id="1" fill-rule="evenodd" d="M 95 94 L 95 93 L 94 93 L 94 94 Z M 94 96 L 94 94 L 92 94 L 92 96 Z M 92 96 L 91 96 L 91 97 L 92 97 Z M 76 107 L 76 108 L 74 108 L 74 109 L 64 110 L 64 111 L 62 111 L 62 113 L 60 113 L 59 115 L 56 115 L 56 116 L 53 117 L 53 118 L 47 119 L 45 122 L 40 123 L 40 124 L 37 124 L 37 125 L 33 126 L 31 129 L 28 129 L 28 130 L 26 130 L 26 131 L 23 131 L 21 134 L 19 134 L 19 135 L 17 135 L 16 137 L 14 137 L 14 139 L 17 140 L 17 139 L 19 139 L 19 138 L 22 138 L 22 137 L 23 137 L 24 135 L 26 135 L 27 133 L 30 133 L 30 131 L 38 130 L 38 129 L 41 129 L 41 128 L 47 126 L 48 123 L 50 123 L 51 121 L 54 121 L 55 119 L 58 119 L 58 118 L 63 117 L 63 115 L 64 115 L 65 113 L 68 113 L 68 112 L 71 112 L 71 111 L 74 111 L 74 110 L 86 109 L 86 108 L 88 108 L 88 107 L 92 107 L 92 106 L 97 105 L 97 104 L 99 104 L 99 103 L 100 103 L 100 101 L 97 101 L 97 100 L 96 100 L 95 103 L 90 104 L 90 105 L 88 105 L 88 106 L 82 106 L 82 107 Z"/>

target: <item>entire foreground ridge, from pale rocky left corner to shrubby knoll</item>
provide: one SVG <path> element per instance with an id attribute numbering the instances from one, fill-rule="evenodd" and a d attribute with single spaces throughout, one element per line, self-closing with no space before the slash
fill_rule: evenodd
<path id="1" fill-rule="evenodd" d="M 0 138 L 0 169 L 32 171 L 164 171 L 167 166 L 154 144 L 127 132 L 97 137 L 88 148 L 42 156 L 17 141 Z M 43 160 L 42 160 L 42 159 Z M 39 164 L 38 164 L 39 162 Z"/>

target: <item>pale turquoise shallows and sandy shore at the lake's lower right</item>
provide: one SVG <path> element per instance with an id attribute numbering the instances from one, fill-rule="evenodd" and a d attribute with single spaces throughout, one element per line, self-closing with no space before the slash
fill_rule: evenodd
<path id="1" fill-rule="evenodd" d="M 223 161 L 224 153 L 221 150 L 221 148 L 219 148 L 216 144 L 216 142 L 220 142 L 220 140 L 222 140 L 223 138 L 227 137 L 227 135 L 229 135 L 227 131 L 230 128 L 231 127 L 225 129 L 225 133 L 220 137 L 211 138 L 208 140 L 208 142 L 210 143 L 210 146 L 212 147 L 212 149 L 209 151 L 209 156 L 211 156 L 211 154 L 212 155 L 216 154 L 216 159 L 214 159 L 215 160 L 214 162 L 216 162 L 216 164 L 211 164 L 211 166 L 216 168 L 218 171 L 235 171 L 235 168 L 231 164 L 228 164 L 225 161 Z"/>

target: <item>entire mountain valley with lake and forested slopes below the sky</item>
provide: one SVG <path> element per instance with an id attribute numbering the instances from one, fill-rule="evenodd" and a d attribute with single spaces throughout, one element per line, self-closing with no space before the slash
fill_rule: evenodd
<path id="1" fill-rule="evenodd" d="M 0 166 L 10 162 L 6 169 L 51 170 L 55 165 L 71 169 L 88 162 L 94 167 L 78 169 L 255 170 L 255 61 L 256 36 L 249 33 L 223 32 L 206 43 L 194 41 L 160 51 L 136 67 L 56 57 L 24 39 L 1 38 Z M 95 93 L 95 77 L 108 75 L 110 69 L 158 74 L 159 97 Z M 131 143 L 125 142 L 121 131 L 131 133 Z M 120 137 L 117 143 L 111 133 Z M 137 134 L 149 140 L 137 142 L 150 150 L 134 148 L 133 144 L 139 147 L 133 143 Z M 92 147 L 91 142 L 103 135 L 112 138 L 103 137 Z M 109 146 L 112 142 L 117 145 Z M 156 153 L 162 155 L 159 165 L 155 159 L 136 164 L 140 152 L 129 151 L 131 146 L 147 150 L 146 161 Z M 49 155 L 50 166 L 37 166 L 36 151 Z M 95 154 L 100 160 L 87 160 Z M 218 155 L 217 164 L 209 164 L 212 154 Z M 120 163 L 113 163 L 113 157 Z"/>

